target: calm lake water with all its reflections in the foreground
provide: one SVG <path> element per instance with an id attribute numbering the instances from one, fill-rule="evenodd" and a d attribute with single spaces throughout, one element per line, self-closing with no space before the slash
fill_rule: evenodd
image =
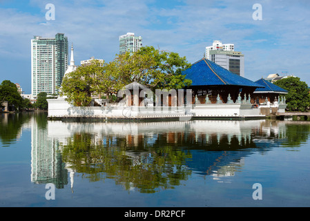
<path id="1" fill-rule="evenodd" d="M 310 206 L 309 138 L 310 122 L 291 120 L 0 113 L 0 207 Z"/>

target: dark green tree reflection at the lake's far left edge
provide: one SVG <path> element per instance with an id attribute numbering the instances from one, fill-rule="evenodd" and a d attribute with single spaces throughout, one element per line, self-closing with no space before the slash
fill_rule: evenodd
<path id="1" fill-rule="evenodd" d="M 12 144 L 21 132 L 21 126 L 30 119 L 28 113 L 0 114 L 0 139 L 3 145 Z"/>

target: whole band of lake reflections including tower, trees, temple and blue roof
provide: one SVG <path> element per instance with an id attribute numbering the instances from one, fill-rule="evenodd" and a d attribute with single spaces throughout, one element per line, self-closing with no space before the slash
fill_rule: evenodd
<path id="1" fill-rule="evenodd" d="M 1 117 L 3 146 L 31 128 L 31 181 L 74 191 L 76 174 L 90 182 L 115 180 L 128 191 L 173 189 L 193 173 L 229 182 L 245 157 L 276 146 L 298 150 L 309 122 L 204 121 L 80 123 L 46 115 Z M 22 119 L 19 119 L 22 118 Z M 6 130 L 11 135 L 6 135 Z M 14 138 L 15 137 L 15 138 Z"/>

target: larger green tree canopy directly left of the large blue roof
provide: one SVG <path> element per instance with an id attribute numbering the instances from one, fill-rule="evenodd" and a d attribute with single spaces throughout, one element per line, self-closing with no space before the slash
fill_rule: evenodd
<path id="1" fill-rule="evenodd" d="M 108 66 L 107 72 L 117 77 L 120 89 L 133 81 L 144 84 L 151 89 L 181 89 L 191 85 L 182 71 L 190 68 L 186 57 L 176 52 L 157 50 L 154 47 L 143 47 L 134 53 L 117 55 Z"/>

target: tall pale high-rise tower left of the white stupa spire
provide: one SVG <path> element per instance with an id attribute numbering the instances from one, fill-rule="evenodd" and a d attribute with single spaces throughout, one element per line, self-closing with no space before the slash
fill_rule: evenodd
<path id="1" fill-rule="evenodd" d="M 57 34 L 55 38 L 35 36 L 31 39 L 31 93 L 58 93 L 62 78 L 68 68 L 68 37 Z"/>

